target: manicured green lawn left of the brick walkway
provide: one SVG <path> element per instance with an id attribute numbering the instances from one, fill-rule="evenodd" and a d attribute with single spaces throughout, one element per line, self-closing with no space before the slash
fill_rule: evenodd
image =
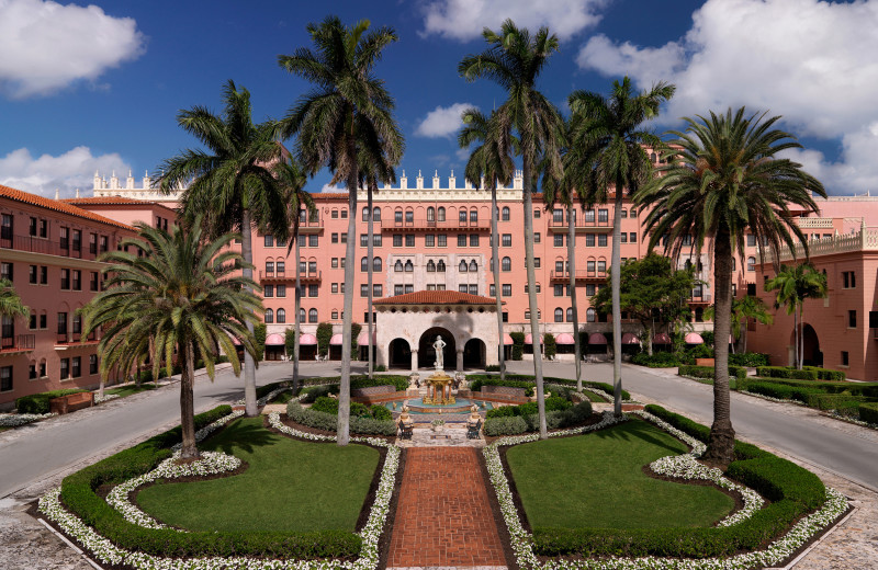
<path id="1" fill-rule="evenodd" d="M 192 531 L 354 531 L 379 463 L 364 445 L 291 440 L 241 419 L 202 444 L 249 464 L 243 474 L 162 483 L 137 494 L 140 508 Z"/>

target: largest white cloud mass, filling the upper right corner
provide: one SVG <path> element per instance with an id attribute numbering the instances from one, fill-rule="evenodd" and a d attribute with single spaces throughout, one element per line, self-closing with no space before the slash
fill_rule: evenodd
<path id="1" fill-rule="evenodd" d="M 661 47 L 592 37 L 577 62 L 648 88 L 677 86 L 663 122 L 746 105 L 783 115 L 788 130 L 841 139 L 838 162 L 799 153 L 828 187 L 878 189 L 878 1 L 708 0 L 693 26 Z M 830 182 L 833 181 L 833 182 Z"/>

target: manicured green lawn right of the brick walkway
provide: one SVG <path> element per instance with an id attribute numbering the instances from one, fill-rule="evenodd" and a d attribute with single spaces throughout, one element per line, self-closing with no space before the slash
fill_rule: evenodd
<path id="1" fill-rule="evenodd" d="M 731 497 L 642 471 L 685 451 L 658 428 L 632 420 L 587 435 L 517 445 L 506 457 L 531 527 L 710 526 L 732 511 Z"/>

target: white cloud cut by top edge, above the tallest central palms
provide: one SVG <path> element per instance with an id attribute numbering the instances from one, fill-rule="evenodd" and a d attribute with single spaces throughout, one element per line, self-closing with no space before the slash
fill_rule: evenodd
<path id="1" fill-rule="evenodd" d="M 499 29 L 507 18 L 537 31 L 542 25 L 561 39 L 595 25 L 597 10 L 609 0 L 431 0 L 425 7 L 421 35 L 439 34 L 459 41 L 481 37 L 482 30 Z"/>

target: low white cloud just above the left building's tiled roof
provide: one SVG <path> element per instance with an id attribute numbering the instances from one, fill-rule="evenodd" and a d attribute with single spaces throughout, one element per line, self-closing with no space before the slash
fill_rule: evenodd
<path id="1" fill-rule="evenodd" d="M 72 197 L 76 189 L 90 196 L 94 172 L 109 175 L 127 175 L 131 168 L 115 152 L 93 156 L 88 147 L 76 147 L 64 155 L 43 155 L 34 158 L 30 150 L 20 148 L 0 158 L 0 184 L 46 197 Z"/>

